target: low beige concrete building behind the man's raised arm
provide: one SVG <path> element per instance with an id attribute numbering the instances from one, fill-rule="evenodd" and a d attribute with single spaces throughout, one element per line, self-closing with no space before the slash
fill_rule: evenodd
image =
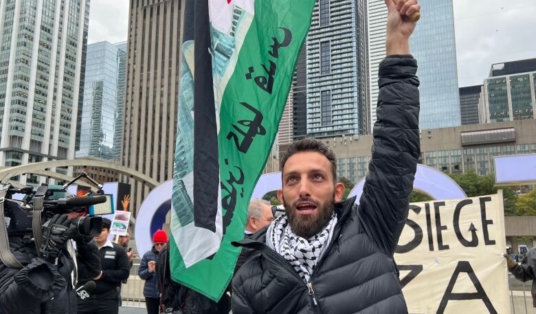
<path id="1" fill-rule="evenodd" d="M 365 177 L 372 135 L 325 140 L 337 155 L 337 176 L 353 183 Z M 419 163 L 448 173 L 489 175 L 494 169 L 494 156 L 529 153 L 536 153 L 535 120 L 468 124 L 422 130 Z"/>

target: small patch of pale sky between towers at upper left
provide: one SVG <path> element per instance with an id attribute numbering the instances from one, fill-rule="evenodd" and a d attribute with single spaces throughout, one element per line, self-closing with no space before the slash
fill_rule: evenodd
<path id="1" fill-rule="evenodd" d="M 128 0 L 91 0 L 87 43 L 126 41 L 128 27 Z"/>

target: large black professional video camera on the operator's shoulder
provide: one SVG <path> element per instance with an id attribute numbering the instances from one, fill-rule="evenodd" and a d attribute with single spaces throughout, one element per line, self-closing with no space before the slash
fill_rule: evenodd
<path id="1" fill-rule="evenodd" d="M 34 190 L 32 187 L 10 187 L 3 200 L 4 220 L 7 226 L 8 236 L 32 236 L 34 206 L 36 195 L 43 197 L 41 211 L 41 225 L 44 225 L 54 214 L 69 214 L 71 212 L 85 212 L 87 206 L 104 203 L 107 201 L 104 195 L 93 197 L 65 197 L 56 198 L 60 193 L 67 193 L 65 188 L 49 188 L 42 185 Z M 22 201 L 12 199 L 14 194 L 25 194 Z M 102 218 L 98 216 L 83 216 L 74 218 L 77 231 L 82 236 L 93 237 L 100 234 Z"/>

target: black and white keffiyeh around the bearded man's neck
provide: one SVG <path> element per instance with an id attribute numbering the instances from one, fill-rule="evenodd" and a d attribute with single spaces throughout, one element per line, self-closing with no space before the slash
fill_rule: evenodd
<path id="1" fill-rule="evenodd" d="M 305 239 L 294 234 L 287 223 L 287 215 L 283 214 L 268 227 L 266 242 L 268 247 L 290 262 L 304 282 L 308 282 L 318 260 L 331 241 L 335 225 L 337 215 L 333 213 L 331 221 L 322 231 Z"/>

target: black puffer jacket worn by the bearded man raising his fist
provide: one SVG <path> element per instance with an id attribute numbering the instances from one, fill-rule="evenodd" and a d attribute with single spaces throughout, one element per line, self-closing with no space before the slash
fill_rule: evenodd
<path id="1" fill-rule="evenodd" d="M 378 121 L 359 208 L 354 198 L 335 205 L 333 240 L 310 281 L 265 241 L 243 240 L 262 254 L 234 276 L 233 314 L 407 313 L 393 254 L 420 154 L 416 69 L 412 56 L 381 62 Z"/>

